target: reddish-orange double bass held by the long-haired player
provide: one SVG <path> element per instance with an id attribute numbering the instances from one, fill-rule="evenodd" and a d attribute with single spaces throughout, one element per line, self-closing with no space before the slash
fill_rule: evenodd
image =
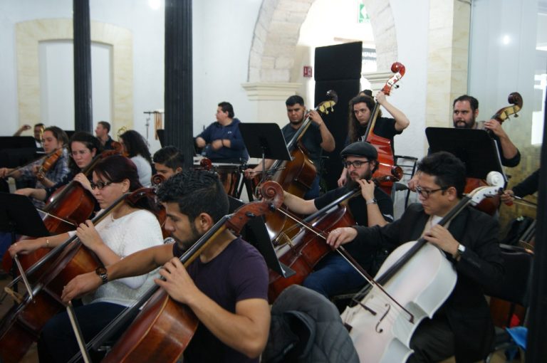
<path id="1" fill-rule="evenodd" d="M 395 62 L 391 65 L 391 71 L 395 73 L 392 77 L 387 80 L 382 92 L 388 96 L 391 93 L 393 87 L 398 88 L 396 83 L 405 75 L 405 65 L 402 65 L 399 62 Z M 370 120 L 367 123 L 367 129 L 363 135 L 363 139 L 366 142 L 370 142 L 377 149 L 378 152 L 378 168 L 373 176 L 377 175 L 395 175 L 393 168 L 395 167 L 395 161 L 393 159 L 393 151 L 391 140 L 386 139 L 385 137 L 380 137 L 374 133 L 374 127 L 376 125 L 377 117 L 380 113 L 380 104 L 375 103 L 372 112 L 370 112 Z M 398 181 L 398 180 L 397 180 Z M 388 180 L 382 183 L 381 188 L 391 195 L 391 189 L 393 182 Z"/>

